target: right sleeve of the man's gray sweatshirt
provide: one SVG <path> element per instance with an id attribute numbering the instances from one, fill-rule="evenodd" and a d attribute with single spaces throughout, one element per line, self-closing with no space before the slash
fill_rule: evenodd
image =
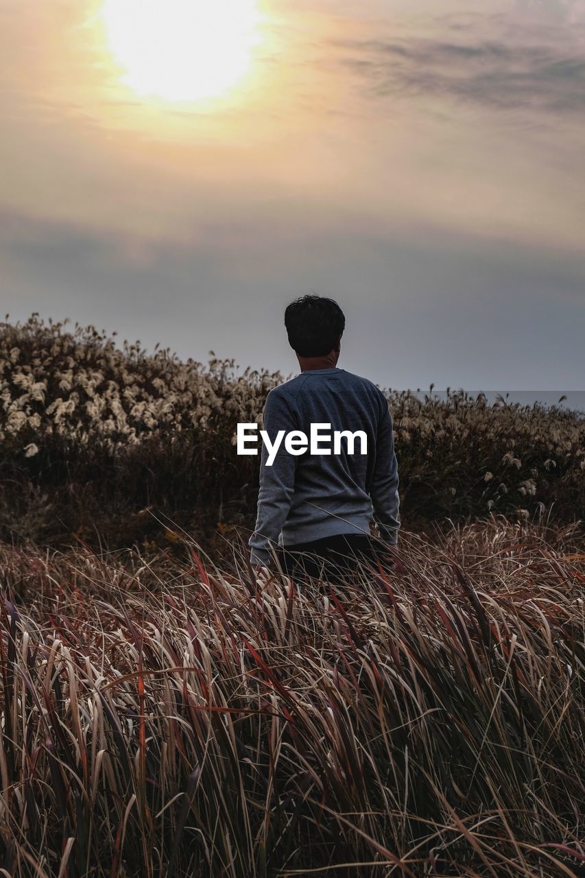
<path id="1" fill-rule="evenodd" d="M 380 536 L 386 543 L 398 542 L 400 522 L 398 512 L 398 462 L 394 452 L 392 415 L 384 399 L 382 416 L 379 421 L 376 440 L 376 464 L 374 466 L 370 496 L 375 518 L 379 524 Z"/>

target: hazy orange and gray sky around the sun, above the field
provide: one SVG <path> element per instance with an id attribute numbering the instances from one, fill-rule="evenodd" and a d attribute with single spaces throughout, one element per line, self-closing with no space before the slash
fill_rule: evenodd
<path id="1" fill-rule="evenodd" d="M 0 0 L 3 317 L 290 372 L 317 291 L 380 384 L 585 389 L 585 0 L 258 0 L 201 103 L 126 84 L 104 3 Z"/>

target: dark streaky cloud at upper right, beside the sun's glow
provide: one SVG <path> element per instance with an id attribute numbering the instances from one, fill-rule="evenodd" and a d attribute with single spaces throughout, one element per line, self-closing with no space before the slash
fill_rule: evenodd
<path id="1" fill-rule="evenodd" d="M 447 97 L 502 111 L 577 115 L 585 110 L 585 52 L 508 40 L 344 40 L 341 62 L 376 97 Z M 449 38 L 452 39 L 449 39 Z M 457 39 L 459 37 L 459 39 Z"/>

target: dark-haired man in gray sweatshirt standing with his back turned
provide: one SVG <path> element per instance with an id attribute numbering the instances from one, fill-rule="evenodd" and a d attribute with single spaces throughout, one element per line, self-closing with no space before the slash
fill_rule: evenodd
<path id="1" fill-rule="evenodd" d="M 310 575 L 327 578 L 358 558 L 374 560 L 374 516 L 384 543 L 397 543 L 392 417 L 378 387 L 337 367 L 345 317 L 333 299 L 296 299 L 285 310 L 285 327 L 300 375 L 271 390 L 264 406 L 264 431 L 272 447 L 278 435 L 280 444 L 270 465 L 263 445 L 250 560 L 256 572 L 278 558 L 285 572 L 302 564 Z M 319 453 L 286 450 L 283 435 L 309 435 L 311 425 L 330 425 L 331 434 L 347 431 L 338 453 L 322 438 Z"/>

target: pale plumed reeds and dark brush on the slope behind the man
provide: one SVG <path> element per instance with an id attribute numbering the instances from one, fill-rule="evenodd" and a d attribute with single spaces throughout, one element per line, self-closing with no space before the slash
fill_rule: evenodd
<path id="1" fill-rule="evenodd" d="M 119 347 L 94 327 L 36 314 L 0 323 L 0 537 L 160 543 L 164 516 L 206 544 L 231 526 L 246 533 L 258 458 L 236 455 L 235 427 L 259 421 L 284 379 Z M 585 518 L 582 413 L 488 405 L 463 391 L 387 396 L 403 519 Z"/>

